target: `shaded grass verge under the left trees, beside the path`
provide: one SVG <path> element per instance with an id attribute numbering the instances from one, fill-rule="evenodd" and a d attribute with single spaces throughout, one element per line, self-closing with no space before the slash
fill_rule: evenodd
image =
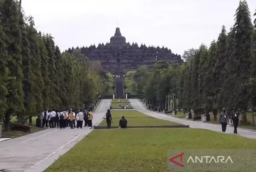
<path id="1" fill-rule="evenodd" d="M 20 137 L 20 136 L 24 136 L 24 135 L 27 135 L 27 134 L 31 134 L 31 133 L 35 133 L 35 132 L 44 130 L 44 128 L 36 127 L 36 118 L 37 117 L 32 117 L 32 124 L 33 125 L 30 128 L 30 133 L 26 133 L 26 132 L 23 132 L 23 131 L 8 131 L 8 132 L 5 132 L 2 129 L 2 137 L 15 138 L 15 137 Z M 15 118 L 11 119 L 11 122 L 16 122 Z"/>

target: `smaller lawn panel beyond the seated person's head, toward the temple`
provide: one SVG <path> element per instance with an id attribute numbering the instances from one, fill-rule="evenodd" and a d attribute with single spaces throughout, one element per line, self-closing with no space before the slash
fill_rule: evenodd
<path id="1" fill-rule="evenodd" d="M 125 118 L 149 118 L 151 116 L 148 116 L 144 113 L 141 113 L 136 110 L 112 110 L 111 111 L 112 118 L 118 118 L 120 119 L 122 116 Z"/>

